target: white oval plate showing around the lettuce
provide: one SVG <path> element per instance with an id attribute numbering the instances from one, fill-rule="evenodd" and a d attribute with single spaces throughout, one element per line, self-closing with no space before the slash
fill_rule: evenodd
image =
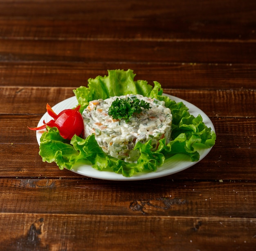
<path id="1" fill-rule="evenodd" d="M 172 99 L 176 102 L 183 102 L 184 105 L 186 105 L 186 107 L 189 108 L 190 114 L 193 114 L 195 117 L 197 117 L 198 114 L 201 114 L 205 125 L 207 127 L 210 127 L 211 130 L 215 132 L 213 123 L 211 122 L 209 117 L 198 107 L 196 107 L 195 105 L 193 105 L 183 99 L 177 98 L 175 96 L 171 96 L 168 94 L 164 94 L 164 95 L 168 96 L 170 99 Z M 52 107 L 52 109 L 54 110 L 54 112 L 56 112 L 58 114 L 65 109 L 71 109 L 71 108 L 76 107 L 77 104 L 78 104 L 78 102 L 76 100 L 76 97 L 72 96 L 71 98 L 65 99 L 65 100 L 61 101 L 60 103 L 54 105 Z M 43 125 L 43 120 L 48 122 L 51 119 L 52 118 L 46 112 L 43 115 L 43 117 L 40 119 L 38 126 Z M 38 141 L 38 144 L 40 144 L 40 137 L 43 132 L 44 132 L 44 130 L 36 131 L 36 139 Z M 210 152 L 210 150 L 211 150 L 211 148 L 198 150 L 198 152 L 200 153 L 199 161 L 201 161 Z M 186 168 L 189 168 L 189 167 L 197 164 L 199 161 L 191 162 L 190 158 L 185 155 L 181 160 L 181 158 L 179 156 L 175 155 L 169 159 L 166 159 L 164 161 L 163 166 L 157 168 L 157 170 L 155 172 L 141 172 L 136 175 L 133 175 L 132 177 L 124 177 L 121 174 L 117 174 L 117 173 L 109 172 L 109 171 L 99 171 L 99 170 L 92 168 L 91 165 L 86 165 L 86 164 L 77 164 L 76 167 L 74 167 L 71 171 L 73 171 L 74 173 L 78 173 L 80 175 L 97 178 L 97 179 L 120 180 L 120 181 L 144 180 L 144 179 L 155 179 L 155 178 L 164 177 L 167 175 L 171 175 L 173 173 L 180 172 L 182 170 L 185 170 Z"/>

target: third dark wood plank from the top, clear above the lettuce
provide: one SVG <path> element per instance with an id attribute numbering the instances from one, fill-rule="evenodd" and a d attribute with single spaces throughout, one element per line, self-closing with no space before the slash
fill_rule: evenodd
<path id="1" fill-rule="evenodd" d="M 0 61 L 256 63 L 254 42 L 5 40 Z"/>

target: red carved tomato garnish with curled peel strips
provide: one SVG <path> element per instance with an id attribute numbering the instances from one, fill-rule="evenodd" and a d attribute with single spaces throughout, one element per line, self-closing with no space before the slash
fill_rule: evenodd
<path id="1" fill-rule="evenodd" d="M 51 106 L 47 103 L 46 110 L 47 113 L 53 118 L 49 122 L 45 123 L 43 121 L 43 125 L 39 127 L 28 127 L 30 130 L 43 130 L 46 126 L 56 127 L 58 128 L 61 137 L 64 139 L 72 139 L 72 137 L 76 134 L 77 136 L 81 135 L 84 130 L 83 125 L 83 117 L 79 112 L 80 105 L 78 105 L 74 109 L 66 109 L 56 114 Z"/>

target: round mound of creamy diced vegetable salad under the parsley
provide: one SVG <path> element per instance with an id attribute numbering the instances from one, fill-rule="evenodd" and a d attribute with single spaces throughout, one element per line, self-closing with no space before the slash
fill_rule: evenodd
<path id="1" fill-rule="evenodd" d="M 150 103 L 150 109 L 142 108 L 142 112 L 132 117 L 128 123 L 124 119 L 113 119 L 108 114 L 112 102 L 117 98 L 127 97 Z M 86 138 L 94 133 L 97 143 L 104 152 L 128 162 L 136 161 L 139 158 L 139 150 L 133 150 L 133 148 L 138 141 L 145 143 L 151 139 L 153 150 L 155 150 L 160 139 L 165 138 L 166 143 L 171 139 L 172 114 L 164 104 L 164 101 L 139 94 L 90 101 L 83 111 L 84 136 Z"/>

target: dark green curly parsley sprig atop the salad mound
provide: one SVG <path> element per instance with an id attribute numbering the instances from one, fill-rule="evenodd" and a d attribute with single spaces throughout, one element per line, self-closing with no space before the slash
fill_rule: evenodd
<path id="1" fill-rule="evenodd" d="M 108 114 L 112 116 L 113 119 L 124 119 L 126 123 L 128 123 L 132 116 L 139 114 L 142 111 L 141 108 L 149 110 L 150 104 L 144 100 L 139 100 L 138 98 L 117 98 L 112 102 L 108 109 Z"/>

